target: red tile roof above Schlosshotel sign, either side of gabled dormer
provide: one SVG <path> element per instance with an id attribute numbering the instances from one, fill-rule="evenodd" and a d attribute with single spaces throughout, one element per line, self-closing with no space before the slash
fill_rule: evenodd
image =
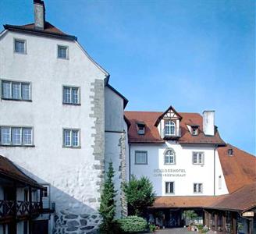
<path id="1" fill-rule="evenodd" d="M 158 132 L 158 128 L 155 126 L 155 122 L 159 116 L 162 116 L 162 112 L 125 112 L 126 118 L 130 121 L 131 126 L 128 131 L 128 138 L 130 143 L 164 143 Z M 203 133 L 203 118 L 197 113 L 180 113 L 181 121 L 181 137 L 178 140 L 180 144 L 219 144 L 224 145 L 224 141 L 219 136 L 218 129 L 215 127 L 215 136 L 205 136 Z M 146 123 L 146 133 L 139 135 L 137 133 L 137 122 Z M 198 135 L 192 136 L 187 125 L 198 125 Z"/>

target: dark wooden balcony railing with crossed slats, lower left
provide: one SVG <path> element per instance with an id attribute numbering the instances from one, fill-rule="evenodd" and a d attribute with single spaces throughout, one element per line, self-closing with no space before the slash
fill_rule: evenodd
<path id="1" fill-rule="evenodd" d="M 29 202 L 23 200 L 0 200 L 0 219 L 2 218 L 20 218 L 39 214 L 42 211 L 40 202 Z"/>

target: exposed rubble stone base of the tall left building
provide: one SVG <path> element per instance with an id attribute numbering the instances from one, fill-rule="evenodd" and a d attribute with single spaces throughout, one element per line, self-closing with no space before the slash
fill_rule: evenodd
<path id="1" fill-rule="evenodd" d="M 55 215 L 54 234 L 96 234 L 98 233 L 101 217 L 95 214 L 72 214 L 60 211 Z"/>

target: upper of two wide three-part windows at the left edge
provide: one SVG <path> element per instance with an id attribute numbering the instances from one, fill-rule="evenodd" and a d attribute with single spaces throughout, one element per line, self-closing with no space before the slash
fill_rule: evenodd
<path id="1" fill-rule="evenodd" d="M 30 83 L 2 80 L 2 99 L 31 101 Z"/>

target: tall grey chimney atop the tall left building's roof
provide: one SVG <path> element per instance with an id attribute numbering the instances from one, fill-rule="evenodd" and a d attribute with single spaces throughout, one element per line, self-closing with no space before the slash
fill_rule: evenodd
<path id="1" fill-rule="evenodd" d="M 44 1 L 34 0 L 34 27 L 37 30 L 44 30 L 45 8 Z"/>

